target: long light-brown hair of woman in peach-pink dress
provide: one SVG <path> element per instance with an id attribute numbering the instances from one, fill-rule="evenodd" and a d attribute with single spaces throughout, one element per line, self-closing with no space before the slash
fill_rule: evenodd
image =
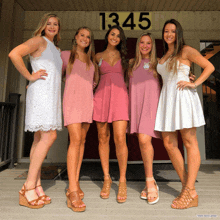
<path id="1" fill-rule="evenodd" d="M 72 41 L 73 47 L 72 47 L 69 62 L 68 62 L 68 65 L 67 65 L 67 73 L 71 73 L 74 61 L 75 61 L 76 56 L 77 56 L 76 35 L 79 33 L 80 30 L 83 30 L 83 29 L 89 31 L 89 33 L 90 33 L 90 44 L 89 44 L 88 47 L 85 48 L 85 53 L 87 55 L 87 57 L 86 57 L 86 67 L 87 67 L 87 69 L 89 69 L 90 65 L 91 65 L 90 61 L 92 61 L 93 65 L 95 67 L 95 76 L 96 76 L 96 74 L 98 73 L 98 66 L 95 62 L 94 37 L 93 37 L 92 31 L 88 27 L 80 27 L 74 35 L 74 38 L 73 38 L 73 41 Z"/>

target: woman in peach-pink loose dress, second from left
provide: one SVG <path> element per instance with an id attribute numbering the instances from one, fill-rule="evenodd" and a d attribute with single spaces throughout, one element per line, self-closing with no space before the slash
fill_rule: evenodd
<path id="1" fill-rule="evenodd" d="M 70 145 L 67 152 L 69 189 L 67 206 L 73 211 L 84 211 L 86 206 L 79 186 L 79 173 L 84 144 L 93 114 L 93 79 L 95 66 L 93 35 L 89 28 L 79 28 L 71 51 L 61 53 L 66 82 L 63 96 L 64 126 L 67 126 Z"/>

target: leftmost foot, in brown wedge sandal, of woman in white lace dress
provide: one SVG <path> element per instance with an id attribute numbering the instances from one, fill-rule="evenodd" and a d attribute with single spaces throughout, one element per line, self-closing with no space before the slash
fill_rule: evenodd
<path id="1" fill-rule="evenodd" d="M 19 191 L 19 205 L 26 206 L 31 209 L 42 208 L 45 203 L 42 201 L 35 192 L 35 187 L 27 189 L 25 184 Z"/>

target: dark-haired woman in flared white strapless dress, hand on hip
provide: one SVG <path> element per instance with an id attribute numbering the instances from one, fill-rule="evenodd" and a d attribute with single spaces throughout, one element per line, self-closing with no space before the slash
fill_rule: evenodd
<path id="1" fill-rule="evenodd" d="M 214 66 L 197 50 L 185 45 L 182 27 L 175 19 L 165 22 L 162 35 L 165 55 L 159 61 L 157 71 L 162 76 L 163 87 L 155 130 L 162 132 L 164 146 L 182 182 L 182 191 L 171 207 L 186 209 L 198 206 L 195 181 L 200 166 L 200 152 L 196 127 L 205 124 L 196 87 L 211 75 Z M 188 77 L 192 63 L 204 69 L 194 83 Z M 178 149 L 177 130 L 180 130 L 187 151 L 187 171 Z"/>

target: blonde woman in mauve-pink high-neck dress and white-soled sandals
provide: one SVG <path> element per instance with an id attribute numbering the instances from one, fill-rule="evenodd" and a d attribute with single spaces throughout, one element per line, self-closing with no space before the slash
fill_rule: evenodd
<path id="1" fill-rule="evenodd" d="M 156 64 L 155 40 L 150 33 L 143 33 L 137 40 L 136 56 L 129 61 L 129 109 L 130 133 L 137 133 L 146 176 L 141 198 L 147 199 L 148 204 L 159 201 L 159 188 L 153 177 L 154 149 L 151 143 L 152 137 L 161 138 L 161 134 L 154 131 L 160 96 Z"/>

